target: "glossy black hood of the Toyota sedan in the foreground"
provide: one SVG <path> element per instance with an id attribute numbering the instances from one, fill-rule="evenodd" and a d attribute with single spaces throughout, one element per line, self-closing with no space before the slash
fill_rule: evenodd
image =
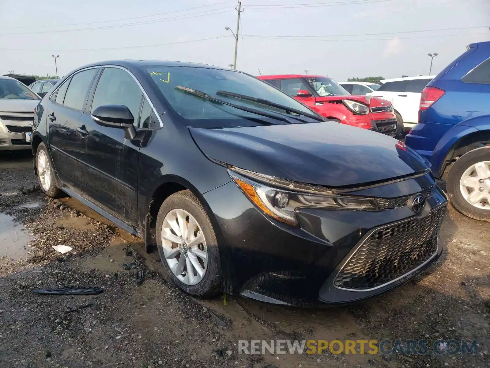
<path id="1" fill-rule="evenodd" d="M 335 122 L 189 129 L 210 158 L 300 183 L 350 186 L 428 168 L 396 139 Z"/>

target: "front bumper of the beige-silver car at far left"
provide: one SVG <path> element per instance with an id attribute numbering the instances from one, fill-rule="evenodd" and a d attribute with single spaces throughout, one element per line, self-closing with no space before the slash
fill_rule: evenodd
<path id="1" fill-rule="evenodd" d="M 32 133 L 32 122 L 0 120 L 0 150 L 30 150 L 31 143 L 30 139 L 26 139 L 26 132 Z"/>

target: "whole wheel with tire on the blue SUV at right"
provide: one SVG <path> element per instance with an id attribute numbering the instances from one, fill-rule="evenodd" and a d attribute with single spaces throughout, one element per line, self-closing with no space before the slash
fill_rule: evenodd
<path id="1" fill-rule="evenodd" d="M 478 163 L 480 165 L 477 165 L 477 172 L 474 165 Z M 449 199 L 456 210 L 476 220 L 490 222 L 489 166 L 490 147 L 477 148 L 463 155 L 452 165 L 446 184 Z M 462 177 L 467 178 L 465 182 L 462 181 Z M 484 182 L 480 183 L 480 179 Z M 480 192 L 481 188 L 483 190 Z M 478 197 L 473 198 L 476 204 L 471 204 L 469 202 L 471 198 L 468 199 L 473 192 L 475 195 L 481 193 Z"/>

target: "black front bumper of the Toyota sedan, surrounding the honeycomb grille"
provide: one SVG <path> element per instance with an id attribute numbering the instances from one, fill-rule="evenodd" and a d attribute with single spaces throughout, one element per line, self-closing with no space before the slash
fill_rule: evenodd
<path id="1" fill-rule="evenodd" d="M 383 196 L 390 203 L 400 203 L 399 198 L 403 198 L 402 202 L 407 202 L 407 198 L 410 201 L 415 194 L 435 185 L 429 175 L 402 183 L 355 193 Z M 233 182 L 213 189 L 203 197 L 215 215 L 222 289 L 294 306 L 310 306 L 319 301 L 345 303 L 391 289 L 434 263 L 441 255 L 442 246 L 438 243 L 437 249 L 422 263 L 374 289 L 340 289 L 335 285 L 335 279 L 360 244 L 373 232 L 393 223 L 417 219 L 423 222 L 433 211 L 441 208 L 443 211 L 447 203 L 444 194 L 437 187 L 430 193 L 419 215 L 406 203 L 376 212 L 302 209 L 297 211 L 300 226 L 294 228 L 262 215 Z M 439 225 L 432 229 L 436 237 Z M 387 260 L 391 261 L 391 258 Z M 408 261 L 402 257 L 397 262 Z"/>

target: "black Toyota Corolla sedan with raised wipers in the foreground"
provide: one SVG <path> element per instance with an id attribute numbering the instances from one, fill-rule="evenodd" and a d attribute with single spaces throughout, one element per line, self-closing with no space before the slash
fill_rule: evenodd
<path id="1" fill-rule="evenodd" d="M 35 171 L 156 245 L 187 293 L 344 303 L 441 255 L 446 197 L 403 143 L 324 121 L 245 73 L 110 61 L 37 106 Z"/>

